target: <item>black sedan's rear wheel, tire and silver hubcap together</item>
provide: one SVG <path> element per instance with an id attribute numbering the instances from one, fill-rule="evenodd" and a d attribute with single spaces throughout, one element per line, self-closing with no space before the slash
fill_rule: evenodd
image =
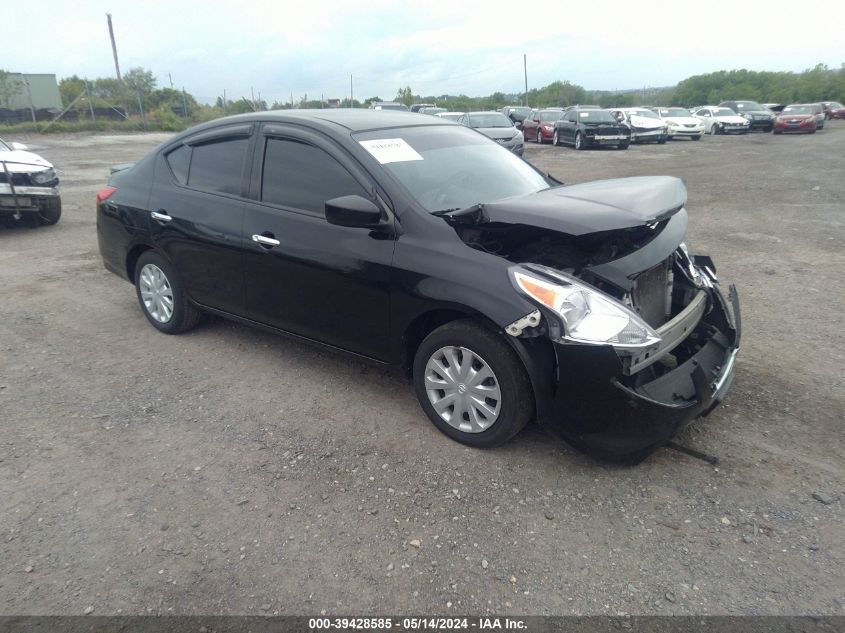
<path id="1" fill-rule="evenodd" d="M 146 251 L 135 265 L 135 293 L 141 311 L 159 332 L 180 334 L 199 321 L 174 268 L 155 251 Z"/>

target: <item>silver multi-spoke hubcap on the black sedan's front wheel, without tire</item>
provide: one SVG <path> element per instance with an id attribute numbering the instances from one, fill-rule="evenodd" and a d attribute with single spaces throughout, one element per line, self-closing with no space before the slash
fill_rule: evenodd
<path id="1" fill-rule="evenodd" d="M 465 347 L 442 347 L 431 355 L 425 390 L 437 415 L 464 433 L 486 431 L 499 417 L 499 381 L 485 360 Z"/>

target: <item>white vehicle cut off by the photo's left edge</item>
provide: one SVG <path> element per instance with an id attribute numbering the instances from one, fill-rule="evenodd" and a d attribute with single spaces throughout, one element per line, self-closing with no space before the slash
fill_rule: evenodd
<path id="1" fill-rule="evenodd" d="M 6 226 L 22 219 L 49 225 L 61 216 L 59 177 L 53 165 L 23 143 L 0 139 L 0 221 Z"/>

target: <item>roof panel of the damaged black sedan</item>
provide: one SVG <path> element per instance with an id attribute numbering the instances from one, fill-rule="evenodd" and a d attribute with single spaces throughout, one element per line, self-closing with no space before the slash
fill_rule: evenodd
<path id="1" fill-rule="evenodd" d="M 214 119 L 208 123 L 191 128 L 191 132 L 207 130 L 219 125 L 266 121 L 270 123 L 294 123 L 325 131 L 337 131 L 345 128 L 350 132 L 364 132 L 385 128 L 411 127 L 424 125 L 444 125 L 445 122 L 427 114 L 417 114 L 402 110 L 371 110 L 369 108 L 325 108 L 321 110 L 267 110 L 249 112 L 234 116 Z"/>

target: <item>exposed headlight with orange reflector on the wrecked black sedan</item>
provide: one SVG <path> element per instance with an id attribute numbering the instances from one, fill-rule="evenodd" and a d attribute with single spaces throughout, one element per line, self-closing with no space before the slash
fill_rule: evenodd
<path id="1" fill-rule="evenodd" d="M 554 279 L 511 269 L 520 292 L 563 321 L 559 338 L 588 345 L 612 345 L 617 351 L 639 351 L 660 342 L 660 336 L 636 313 L 612 297 L 572 277 L 536 266 Z"/>

